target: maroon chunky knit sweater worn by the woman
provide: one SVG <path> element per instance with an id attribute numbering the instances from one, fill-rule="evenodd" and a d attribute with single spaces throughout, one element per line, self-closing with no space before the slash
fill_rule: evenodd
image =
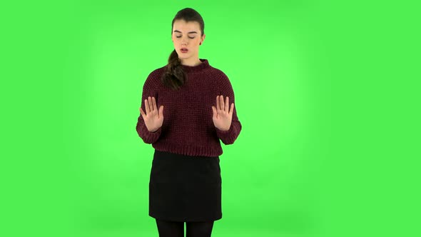
<path id="1" fill-rule="evenodd" d="M 145 143 L 152 143 L 158 151 L 168 151 L 187 156 L 220 156 L 220 141 L 232 144 L 241 131 L 238 121 L 233 87 L 223 71 L 209 65 L 207 59 L 198 66 L 182 65 L 187 74 L 186 83 L 173 91 L 161 82 L 165 66 L 149 74 L 143 84 L 141 106 L 145 99 L 155 96 L 156 106 L 163 105 L 163 125 L 155 132 L 148 131 L 143 117 L 138 116 L 136 131 Z M 220 131 L 213 124 L 212 106 L 216 108 L 216 96 L 229 97 L 234 103 L 233 120 L 228 131 Z M 219 141 L 220 140 L 220 141 Z"/>

